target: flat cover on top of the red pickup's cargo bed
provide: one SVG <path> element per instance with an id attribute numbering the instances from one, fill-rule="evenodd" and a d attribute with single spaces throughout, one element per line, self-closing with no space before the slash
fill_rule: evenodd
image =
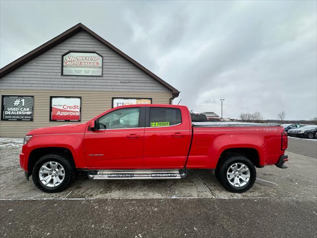
<path id="1" fill-rule="evenodd" d="M 201 121 L 192 122 L 193 127 L 246 127 L 246 126 L 280 126 L 276 123 L 254 123 L 254 122 L 240 122 L 240 121 Z"/>

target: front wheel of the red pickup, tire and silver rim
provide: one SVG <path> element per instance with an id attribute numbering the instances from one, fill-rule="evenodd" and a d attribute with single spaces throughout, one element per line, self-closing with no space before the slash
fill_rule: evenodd
<path id="1" fill-rule="evenodd" d="M 34 184 L 44 192 L 61 192 L 74 177 L 75 171 L 69 160 L 58 154 L 42 156 L 32 172 Z"/>

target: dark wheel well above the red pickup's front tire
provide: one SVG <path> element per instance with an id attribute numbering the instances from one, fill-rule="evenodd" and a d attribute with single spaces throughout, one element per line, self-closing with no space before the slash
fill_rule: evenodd
<path id="1" fill-rule="evenodd" d="M 32 173 L 33 167 L 37 160 L 47 154 L 58 154 L 67 158 L 75 168 L 74 157 L 71 151 L 64 147 L 43 147 L 31 151 L 28 161 L 28 171 Z"/>

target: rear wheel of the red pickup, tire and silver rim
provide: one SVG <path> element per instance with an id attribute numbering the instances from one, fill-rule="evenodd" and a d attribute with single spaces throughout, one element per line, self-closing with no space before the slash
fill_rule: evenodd
<path id="1" fill-rule="evenodd" d="M 230 192 L 249 190 L 257 177 L 254 164 L 244 156 L 233 156 L 226 159 L 220 166 L 217 179 Z"/>

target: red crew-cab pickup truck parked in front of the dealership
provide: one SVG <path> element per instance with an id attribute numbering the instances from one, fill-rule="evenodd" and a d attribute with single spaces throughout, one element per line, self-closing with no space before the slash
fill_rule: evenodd
<path id="1" fill-rule="evenodd" d="M 45 192 L 65 189 L 78 171 L 90 179 L 181 179 L 214 169 L 229 191 L 244 192 L 256 167 L 287 168 L 287 133 L 278 125 L 192 122 L 185 106 L 129 105 L 81 124 L 31 130 L 20 165 Z"/>

